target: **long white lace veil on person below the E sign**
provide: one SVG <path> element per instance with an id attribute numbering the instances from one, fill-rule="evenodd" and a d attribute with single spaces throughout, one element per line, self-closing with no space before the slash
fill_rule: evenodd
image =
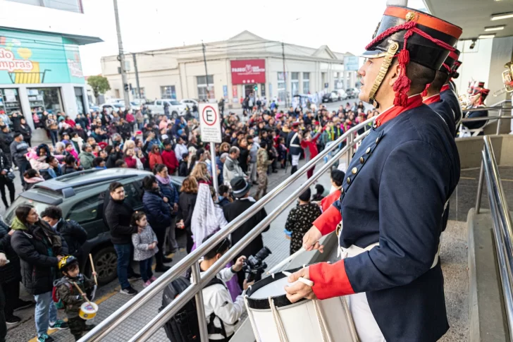
<path id="1" fill-rule="evenodd" d="M 209 185 L 199 184 L 196 204 L 192 212 L 191 230 L 196 248 L 203 243 L 203 239 L 219 228 L 216 219 L 216 207 L 212 200 Z"/>

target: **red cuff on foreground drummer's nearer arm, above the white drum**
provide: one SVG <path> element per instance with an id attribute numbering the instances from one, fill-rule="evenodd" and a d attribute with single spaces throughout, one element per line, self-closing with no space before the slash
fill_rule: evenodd
<path id="1" fill-rule="evenodd" d="M 321 262 L 309 267 L 310 280 L 314 282 L 315 295 L 319 299 L 352 295 L 354 293 L 349 278 L 345 273 L 344 260 L 328 264 Z"/>

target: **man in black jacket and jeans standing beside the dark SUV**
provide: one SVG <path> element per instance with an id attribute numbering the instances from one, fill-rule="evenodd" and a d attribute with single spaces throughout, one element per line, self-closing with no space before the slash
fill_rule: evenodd
<path id="1" fill-rule="evenodd" d="M 118 255 L 118 279 L 121 285 L 120 293 L 136 295 L 137 291 L 130 286 L 128 275 L 136 276 L 130 261 L 132 258 L 132 234 L 137 233 L 137 227 L 130 226 L 133 209 L 125 201 L 125 188 L 123 184 L 113 182 L 109 185 L 111 198 L 106 205 L 104 215 L 111 230 L 111 241 Z"/>

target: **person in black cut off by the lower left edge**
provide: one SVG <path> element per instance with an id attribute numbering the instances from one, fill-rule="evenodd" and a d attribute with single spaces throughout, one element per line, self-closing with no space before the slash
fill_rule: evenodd
<path id="1" fill-rule="evenodd" d="M 14 233 L 3 220 L 0 219 L 0 240 L 4 246 L 4 251 L 9 263 L 4 267 L 0 267 L 0 284 L 4 293 L 6 293 L 6 305 L 4 314 L 7 324 L 15 324 L 21 322 L 20 317 L 14 315 L 14 310 L 30 307 L 32 302 L 20 300 L 20 258 L 11 247 L 11 236 Z"/>

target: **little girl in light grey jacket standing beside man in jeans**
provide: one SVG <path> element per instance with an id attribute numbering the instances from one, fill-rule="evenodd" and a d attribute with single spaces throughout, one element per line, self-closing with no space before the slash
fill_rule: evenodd
<path id="1" fill-rule="evenodd" d="M 134 260 L 139 262 L 141 278 L 147 287 L 156 281 L 152 272 L 153 256 L 159 252 L 156 247 L 157 240 L 151 226 L 149 226 L 144 212 L 135 212 L 132 214 L 132 226 L 139 228 L 139 233 L 132 234 L 132 243 L 134 244 Z"/>

